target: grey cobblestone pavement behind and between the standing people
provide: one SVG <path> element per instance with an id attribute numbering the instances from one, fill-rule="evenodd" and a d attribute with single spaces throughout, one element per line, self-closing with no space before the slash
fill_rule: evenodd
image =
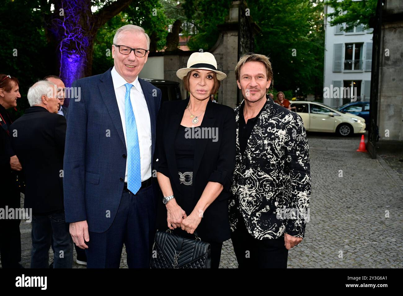
<path id="1" fill-rule="evenodd" d="M 289 268 L 403 267 L 403 179 L 394 162 L 399 156 L 372 160 L 355 151 L 359 140 L 308 133 L 310 221 L 304 240 L 289 251 Z M 31 225 L 22 221 L 20 228 L 21 264 L 28 268 Z M 120 267 L 127 268 L 125 250 Z M 231 240 L 224 242 L 220 267 L 237 268 Z"/>

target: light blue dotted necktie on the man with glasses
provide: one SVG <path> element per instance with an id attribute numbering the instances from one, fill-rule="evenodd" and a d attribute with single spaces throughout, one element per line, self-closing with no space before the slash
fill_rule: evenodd
<path id="1" fill-rule="evenodd" d="M 140 146 L 136 118 L 130 101 L 133 84 L 126 83 L 125 115 L 127 138 L 127 189 L 136 194 L 141 187 Z"/>

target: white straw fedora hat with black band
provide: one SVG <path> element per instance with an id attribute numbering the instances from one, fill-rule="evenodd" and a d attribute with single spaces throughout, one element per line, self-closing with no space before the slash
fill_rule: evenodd
<path id="1" fill-rule="evenodd" d="M 222 80 L 226 77 L 225 73 L 217 70 L 216 58 L 210 52 L 193 52 L 187 60 L 187 68 L 177 71 L 177 76 L 183 80 L 183 77 L 194 69 L 210 70 L 217 74 L 217 79 Z"/>

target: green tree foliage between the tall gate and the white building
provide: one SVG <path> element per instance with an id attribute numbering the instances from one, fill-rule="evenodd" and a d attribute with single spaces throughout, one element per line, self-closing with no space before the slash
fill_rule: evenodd
<path id="1" fill-rule="evenodd" d="M 274 88 L 298 94 L 322 94 L 324 64 L 321 0 L 249 0 L 260 27 L 255 52 L 269 56 Z"/>

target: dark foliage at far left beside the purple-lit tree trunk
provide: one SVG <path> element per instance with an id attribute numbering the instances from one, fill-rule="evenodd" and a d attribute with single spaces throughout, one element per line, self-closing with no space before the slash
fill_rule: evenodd
<path id="1" fill-rule="evenodd" d="M 29 108 L 29 86 L 46 75 L 58 75 L 53 71 L 52 51 L 42 28 L 41 11 L 35 10 L 38 6 L 39 1 L 33 0 L 6 0 L 0 5 L 0 73 L 19 79 L 18 115 Z"/>

